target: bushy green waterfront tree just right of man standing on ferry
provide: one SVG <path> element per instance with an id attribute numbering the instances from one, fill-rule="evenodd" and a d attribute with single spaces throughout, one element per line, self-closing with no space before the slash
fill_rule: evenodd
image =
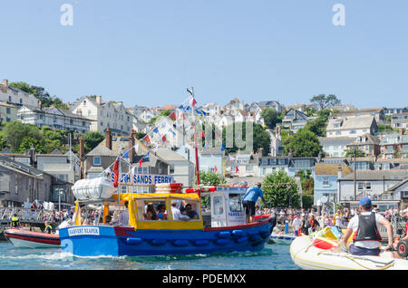
<path id="1" fill-rule="evenodd" d="M 284 170 L 279 169 L 267 174 L 262 182 L 262 191 L 269 207 L 300 206 L 296 181 L 294 178 L 289 177 Z"/>

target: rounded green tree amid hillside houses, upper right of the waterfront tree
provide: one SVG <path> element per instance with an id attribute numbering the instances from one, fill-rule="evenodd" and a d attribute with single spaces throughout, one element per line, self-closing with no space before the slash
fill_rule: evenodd
<path id="1" fill-rule="evenodd" d="M 288 136 L 284 143 L 285 153 L 292 151 L 293 157 L 317 157 L 323 152 L 316 135 L 310 130 L 298 130 L 295 135 Z"/>

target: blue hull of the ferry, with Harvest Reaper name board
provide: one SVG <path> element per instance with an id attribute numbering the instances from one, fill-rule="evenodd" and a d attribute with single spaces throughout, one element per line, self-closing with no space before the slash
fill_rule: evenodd
<path id="1" fill-rule="evenodd" d="M 119 226 L 74 226 L 60 230 L 63 252 L 79 256 L 213 254 L 261 250 L 273 218 L 250 225 L 204 230 L 138 230 Z"/>

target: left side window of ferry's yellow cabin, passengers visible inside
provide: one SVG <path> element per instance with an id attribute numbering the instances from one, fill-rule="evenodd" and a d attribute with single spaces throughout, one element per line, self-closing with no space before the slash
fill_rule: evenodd
<path id="1" fill-rule="evenodd" d="M 168 220 L 166 201 L 164 200 L 137 200 L 138 221 Z"/>

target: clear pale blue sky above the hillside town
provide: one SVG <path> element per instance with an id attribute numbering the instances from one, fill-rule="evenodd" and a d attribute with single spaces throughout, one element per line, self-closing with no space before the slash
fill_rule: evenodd
<path id="1" fill-rule="evenodd" d="M 335 4 L 345 26 L 335 26 Z M 63 26 L 61 5 L 73 5 Z M 0 79 L 125 106 L 333 93 L 357 108 L 407 106 L 403 0 L 2 0 Z"/>

